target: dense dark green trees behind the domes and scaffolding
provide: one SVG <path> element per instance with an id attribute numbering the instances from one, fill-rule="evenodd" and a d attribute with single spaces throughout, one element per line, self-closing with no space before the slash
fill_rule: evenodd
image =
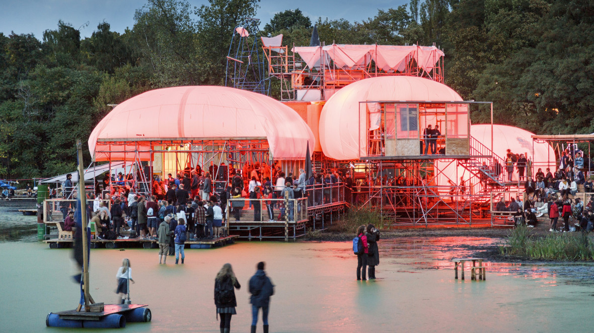
<path id="1" fill-rule="evenodd" d="M 124 33 L 102 22 L 84 39 L 64 21 L 41 40 L 0 33 L 0 178 L 71 171 L 75 140 L 89 137 L 109 104 L 159 87 L 223 85 L 233 28 L 257 17 L 258 1 L 192 8 L 148 0 Z M 446 84 L 466 100 L 493 101 L 495 122 L 536 133 L 594 132 L 590 1 L 410 0 L 353 23 L 312 22 L 293 9 L 260 28 L 292 46 L 308 45 L 313 25 L 326 44 L 435 43 L 446 55 Z M 488 112 L 476 110 L 472 120 L 488 121 Z"/>

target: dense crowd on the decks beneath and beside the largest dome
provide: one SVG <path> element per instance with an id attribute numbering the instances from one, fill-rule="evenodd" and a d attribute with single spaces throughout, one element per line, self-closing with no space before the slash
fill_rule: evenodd
<path id="1" fill-rule="evenodd" d="M 211 172 L 216 175 L 214 179 Z M 350 180 L 350 175 L 346 180 Z M 102 186 L 96 182 L 95 193 L 87 195 L 87 210 L 96 227 L 97 238 L 156 240 L 170 236 L 168 252 L 172 255 L 179 238 L 159 233 L 163 222 L 167 222 L 170 231 L 175 232 L 181 225 L 179 220 L 183 219 L 185 239 L 219 238 L 228 216 L 236 221 L 274 222 L 276 219 L 284 220 L 286 214 L 289 220 L 293 220 L 295 211 L 305 209 L 305 201 L 295 199 L 307 197 L 309 206 L 334 203 L 340 197 L 344 198 L 344 190 L 340 190 L 344 181 L 342 172 L 331 170 L 307 179 L 304 169 L 299 169 L 299 175 L 295 177 L 292 173 L 285 174 L 279 162 L 272 167 L 258 162 L 246 164 L 243 170 L 224 163 L 218 166 L 211 163 L 208 171 L 197 165 L 194 169 L 186 168 L 179 172 L 175 178 L 168 174 L 162 180 L 154 175 L 151 194 L 143 196 L 135 192 L 138 187 L 134 177 L 119 172 L 111 177 L 106 174 Z M 67 176 L 64 188 L 65 198 L 76 195 L 71 175 Z M 274 200 L 285 197 L 290 199 L 288 204 L 285 200 Z M 71 207 L 67 201 L 61 206 L 66 219 Z M 253 216 L 249 211 L 253 211 Z M 131 234 L 124 236 L 122 231 L 130 231 Z M 177 252 L 181 252 L 183 260 L 183 249 Z"/>

